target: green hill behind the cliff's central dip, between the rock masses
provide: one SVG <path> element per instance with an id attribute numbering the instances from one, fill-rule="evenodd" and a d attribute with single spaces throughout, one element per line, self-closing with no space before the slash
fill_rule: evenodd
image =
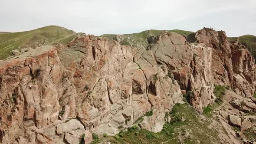
<path id="1" fill-rule="evenodd" d="M 122 45 L 128 45 L 132 47 L 136 47 L 138 49 L 146 49 L 148 46 L 148 36 L 158 36 L 161 32 L 165 30 L 145 30 L 141 33 L 132 33 L 132 34 L 124 34 L 124 35 L 119 35 L 121 38 L 121 44 Z M 180 29 L 174 29 L 174 30 L 167 30 L 167 32 L 175 32 L 179 33 L 181 35 L 187 36 L 190 33 L 190 31 L 185 31 L 185 30 L 180 30 Z M 115 34 L 104 34 L 102 37 L 106 37 L 108 39 L 114 39 L 116 36 Z"/>

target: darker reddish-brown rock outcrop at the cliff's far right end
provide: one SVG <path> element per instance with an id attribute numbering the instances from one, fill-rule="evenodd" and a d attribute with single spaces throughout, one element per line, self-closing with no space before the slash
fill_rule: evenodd
<path id="1" fill-rule="evenodd" d="M 226 33 L 201 29 L 194 41 L 213 48 L 212 81 L 230 86 L 237 94 L 251 97 L 255 92 L 255 60 L 239 43 L 228 42 Z M 193 36 L 190 36 L 190 41 Z"/>

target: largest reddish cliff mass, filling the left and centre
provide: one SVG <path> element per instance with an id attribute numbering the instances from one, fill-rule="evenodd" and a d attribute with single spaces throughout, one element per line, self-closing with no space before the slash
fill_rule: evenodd
<path id="1" fill-rule="evenodd" d="M 0 142 L 76 143 L 86 131 L 115 135 L 147 111 L 156 116 L 152 121 L 164 121 L 159 116 L 183 102 L 180 86 L 152 51 L 137 58 L 130 47 L 91 35 L 2 60 Z M 154 124 L 149 130 L 161 131 Z"/>

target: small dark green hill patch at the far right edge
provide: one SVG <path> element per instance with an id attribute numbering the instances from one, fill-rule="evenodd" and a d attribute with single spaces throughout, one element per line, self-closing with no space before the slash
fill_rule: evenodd
<path id="1" fill-rule="evenodd" d="M 247 49 L 252 53 L 253 57 L 256 58 L 256 36 L 253 35 L 243 35 L 239 37 L 230 37 L 229 40 L 238 39 L 239 43 L 246 46 Z"/>

